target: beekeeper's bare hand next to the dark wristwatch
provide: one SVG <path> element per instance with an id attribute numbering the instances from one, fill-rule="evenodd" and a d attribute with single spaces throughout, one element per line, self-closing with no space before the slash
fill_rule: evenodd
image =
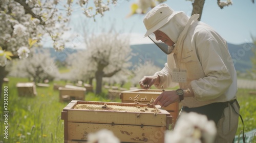
<path id="1" fill-rule="evenodd" d="M 176 91 L 164 91 L 162 92 L 153 103 L 154 105 L 160 105 L 162 107 L 166 107 L 174 102 L 179 101 L 180 98 L 176 94 Z"/>

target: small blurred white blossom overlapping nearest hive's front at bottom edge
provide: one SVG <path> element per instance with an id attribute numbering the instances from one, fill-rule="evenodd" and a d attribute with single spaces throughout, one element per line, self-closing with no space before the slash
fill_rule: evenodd
<path id="1" fill-rule="evenodd" d="M 96 133 L 88 134 L 88 143 L 119 143 L 120 140 L 113 134 L 112 131 L 102 129 Z"/>

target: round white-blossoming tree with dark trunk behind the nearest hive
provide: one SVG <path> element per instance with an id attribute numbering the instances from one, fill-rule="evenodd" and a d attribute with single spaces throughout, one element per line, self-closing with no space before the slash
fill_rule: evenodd
<path id="1" fill-rule="evenodd" d="M 99 94 L 103 77 L 112 77 L 130 66 L 130 38 L 109 32 L 92 35 L 86 43 L 87 49 L 75 55 L 72 72 L 79 80 L 94 77 L 96 94 Z"/>

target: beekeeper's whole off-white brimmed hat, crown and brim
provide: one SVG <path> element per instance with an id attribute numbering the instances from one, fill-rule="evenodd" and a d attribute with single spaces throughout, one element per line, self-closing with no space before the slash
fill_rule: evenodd
<path id="1" fill-rule="evenodd" d="M 182 13 L 182 11 L 174 11 L 166 4 L 160 4 L 153 8 L 143 20 L 147 30 L 145 37 L 157 31 L 178 13 Z"/>

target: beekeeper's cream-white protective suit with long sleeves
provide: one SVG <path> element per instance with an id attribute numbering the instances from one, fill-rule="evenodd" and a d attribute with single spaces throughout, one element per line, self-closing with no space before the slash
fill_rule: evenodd
<path id="1" fill-rule="evenodd" d="M 152 11 L 159 7 L 168 6 L 161 4 Z M 152 12 L 149 13 L 151 14 L 144 18 L 147 31 L 147 18 L 152 15 Z M 187 70 L 186 82 L 180 82 L 179 85 L 181 89 L 191 87 L 194 92 L 195 97 L 185 97 L 182 101 L 183 106 L 188 108 L 237 98 L 237 74 L 227 43 L 212 27 L 198 21 L 198 17 L 198 14 L 188 17 L 184 12 L 176 12 L 169 21 L 158 28 L 175 42 L 176 46 L 172 53 L 167 55 L 165 67 L 155 73 L 160 77 L 160 83 L 155 86 L 158 89 L 172 87 L 173 70 Z M 160 23 L 161 20 L 156 21 Z M 148 33 L 145 36 L 147 35 Z M 232 142 L 238 127 L 240 109 L 238 102 L 234 104 L 234 108 L 231 105 L 224 108 L 217 125 L 218 135 L 215 142 Z"/>

